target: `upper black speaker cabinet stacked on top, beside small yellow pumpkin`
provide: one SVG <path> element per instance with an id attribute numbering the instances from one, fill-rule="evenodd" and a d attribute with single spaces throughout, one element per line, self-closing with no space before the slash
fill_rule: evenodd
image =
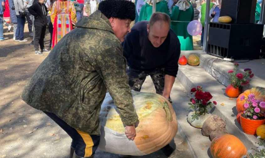
<path id="1" fill-rule="evenodd" d="M 220 16 L 230 16 L 231 23 L 254 23 L 257 0 L 222 0 Z"/>

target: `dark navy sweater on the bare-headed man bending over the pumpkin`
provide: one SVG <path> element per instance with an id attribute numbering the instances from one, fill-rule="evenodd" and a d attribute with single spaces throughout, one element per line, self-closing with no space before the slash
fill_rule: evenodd
<path id="1" fill-rule="evenodd" d="M 166 74 L 176 77 L 180 56 L 180 43 L 177 35 L 170 29 L 164 43 L 155 48 L 147 37 L 148 23 L 148 21 L 136 23 L 125 38 L 123 54 L 128 66 L 143 71 L 165 68 Z"/>

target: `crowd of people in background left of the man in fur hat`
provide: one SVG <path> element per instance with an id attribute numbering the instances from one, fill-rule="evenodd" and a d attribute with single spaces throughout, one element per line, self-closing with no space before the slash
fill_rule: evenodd
<path id="1" fill-rule="evenodd" d="M 86 8 L 84 6 L 87 5 Z M 91 15 L 98 8 L 97 0 L 1 0 L 0 5 L 0 41 L 4 41 L 3 24 L 8 31 L 13 27 L 13 40 L 27 42 L 24 38 L 24 26 L 28 22 L 29 36 L 34 45 L 35 54 L 49 53 L 63 36 L 69 33 L 83 15 Z M 13 23 L 12 25 L 9 25 Z M 46 29 L 50 33 L 50 49 L 45 49 Z M 40 49 L 39 49 L 40 48 Z"/>

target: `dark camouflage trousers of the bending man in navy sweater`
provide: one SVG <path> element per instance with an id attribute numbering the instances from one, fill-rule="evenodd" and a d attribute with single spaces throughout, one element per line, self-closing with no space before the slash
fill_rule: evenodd
<path id="1" fill-rule="evenodd" d="M 155 85 L 156 93 L 160 95 L 163 94 L 165 84 L 164 68 L 156 68 L 152 71 L 142 71 L 127 66 L 126 73 L 129 76 L 129 85 L 131 89 L 140 92 L 141 87 L 146 80 L 146 76 L 150 75 Z"/>

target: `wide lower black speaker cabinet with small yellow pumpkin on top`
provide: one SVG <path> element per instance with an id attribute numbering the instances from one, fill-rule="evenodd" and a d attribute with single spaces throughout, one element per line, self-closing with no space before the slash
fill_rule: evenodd
<path id="1" fill-rule="evenodd" d="M 222 58 L 259 59 L 263 25 L 210 23 L 207 53 Z"/>

